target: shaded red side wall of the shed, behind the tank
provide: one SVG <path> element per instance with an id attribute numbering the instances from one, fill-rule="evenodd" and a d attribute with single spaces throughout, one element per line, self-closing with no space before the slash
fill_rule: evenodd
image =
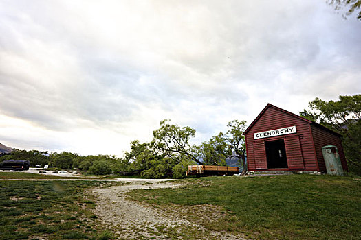
<path id="1" fill-rule="evenodd" d="M 318 160 L 318 166 L 320 171 L 326 171 L 325 160 L 322 155 L 322 147 L 327 145 L 335 145 L 338 148 L 338 154 L 340 154 L 341 164 L 344 171 L 348 171 L 346 158 L 344 157 L 343 147 L 341 140 L 338 136 L 326 132 L 315 125 L 311 125 L 312 136 L 314 138 L 314 145 L 316 150 L 316 156 Z"/>

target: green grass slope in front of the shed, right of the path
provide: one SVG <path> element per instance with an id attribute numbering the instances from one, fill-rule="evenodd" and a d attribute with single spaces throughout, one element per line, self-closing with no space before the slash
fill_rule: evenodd
<path id="1" fill-rule="evenodd" d="M 361 239 L 360 178 L 232 176 L 180 182 L 186 185 L 129 195 L 182 211 L 209 230 L 243 232 L 253 239 Z M 194 206 L 217 206 L 221 211 L 210 221 L 212 211 L 195 211 Z"/>

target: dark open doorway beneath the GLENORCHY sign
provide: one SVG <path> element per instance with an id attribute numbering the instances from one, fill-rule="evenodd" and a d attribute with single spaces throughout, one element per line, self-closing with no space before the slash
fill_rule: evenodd
<path id="1" fill-rule="evenodd" d="M 287 168 L 285 142 L 283 139 L 265 142 L 265 153 L 267 155 L 267 166 L 272 168 Z"/>

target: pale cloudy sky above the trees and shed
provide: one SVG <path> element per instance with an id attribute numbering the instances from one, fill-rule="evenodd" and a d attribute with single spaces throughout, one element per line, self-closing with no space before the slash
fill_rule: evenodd
<path id="1" fill-rule="evenodd" d="M 361 21 L 324 0 L 0 0 L 0 143 L 123 156 L 267 105 L 361 93 Z"/>

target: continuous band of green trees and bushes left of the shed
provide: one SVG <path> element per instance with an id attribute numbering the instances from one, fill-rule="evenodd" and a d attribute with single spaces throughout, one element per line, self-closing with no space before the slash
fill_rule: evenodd
<path id="1" fill-rule="evenodd" d="M 231 121 L 228 132 L 220 132 L 200 145 L 190 145 L 196 130 L 160 122 L 149 143 L 131 142 L 131 151 L 123 158 L 109 155 L 80 156 L 70 152 L 41 152 L 13 149 L 2 160 L 29 160 L 30 167 L 48 165 L 50 169 L 76 169 L 87 175 L 136 176 L 140 178 L 184 178 L 188 165 L 226 165 L 226 158 L 245 166 L 245 121 Z M 245 173 L 245 167 L 242 168 Z"/>

